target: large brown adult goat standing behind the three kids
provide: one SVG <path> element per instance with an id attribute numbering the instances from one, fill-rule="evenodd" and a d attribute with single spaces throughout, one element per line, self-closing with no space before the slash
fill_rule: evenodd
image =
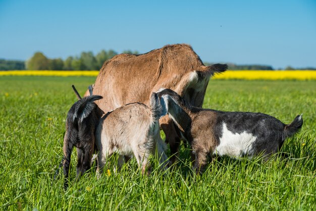
<path id="1" fill-rule="evenodd" d="M 104 113 L 131 102 L 148 105 L 150 93 L 161 88 L 170 88 L 195 107 L 202 107 L 210 76 L 226 69 L 227 65 L 221 64 L 204 66 L 190 45 L 166 45 L 141 55 L 120 54 L 105 62 L 93 85 L 93 94 L 103 96 L 96 104 Z M 177 154 L 180 139 L 173 121 L 166 116 L 160 120 L 160 126 L 171 153 Z M 173 156 L 171 161 L 174 160 Z"/>

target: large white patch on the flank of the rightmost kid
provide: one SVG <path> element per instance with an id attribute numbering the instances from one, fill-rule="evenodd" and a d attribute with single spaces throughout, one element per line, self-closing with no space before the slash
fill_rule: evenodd
<path id="1" fill-rule="evenodd" d="M 256 140 L 256 136 L 246 131 L 242 133 L 232 133 L 228 130 L 225 123 L 223 123 L 222 137 L 220 138 L 220 145 L 214 151 L 219 155 L 230 155 L 240 157 L 242 155 L 252 154 L 252 144 Z"/>

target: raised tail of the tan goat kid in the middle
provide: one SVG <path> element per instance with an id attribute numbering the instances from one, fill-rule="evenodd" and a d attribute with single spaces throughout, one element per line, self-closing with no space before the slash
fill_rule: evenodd
<path id="1" fill-rule="evenodd" d="M 159 121 L 160 118 L 168 113 L 165 101 L 163 99 L 160 100 L 155 92 L 152 92 L 150 95 L 149 108 L 153 122 Z"/>

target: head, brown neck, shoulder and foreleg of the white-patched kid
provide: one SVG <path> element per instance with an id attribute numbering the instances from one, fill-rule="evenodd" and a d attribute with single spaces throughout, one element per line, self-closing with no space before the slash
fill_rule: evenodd
<path id="1" fill-rule="evenodd" d="M 172 90 L 159 92 L 160 97 L 170 94 L 172 100 L 164 98 L 168 107 L 168 115 L 173 118 L 179 136 L 191 145 L 193 169 L 201 172 L 207 164 L 207 157 L 219 144 L 215 137 L 214 125 L 217 114 L 210 110 L 192 107 L 186 100 Z M 176 114 L 173 116 L 172 114 Z"/>

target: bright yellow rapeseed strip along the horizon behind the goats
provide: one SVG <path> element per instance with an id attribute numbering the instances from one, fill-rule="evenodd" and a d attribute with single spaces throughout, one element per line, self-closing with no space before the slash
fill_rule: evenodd
<path id="1" fill-rule="evenodd" d="M 54 70 L 16 70 L 0 71 L 0 76 L 97 76 L 99 71 L 54 71 Z M 316 80 L 316 71 L 267 71 L 238 70 L 216 74 L 214 79 L 245 79 L 245 80 Z"/>

